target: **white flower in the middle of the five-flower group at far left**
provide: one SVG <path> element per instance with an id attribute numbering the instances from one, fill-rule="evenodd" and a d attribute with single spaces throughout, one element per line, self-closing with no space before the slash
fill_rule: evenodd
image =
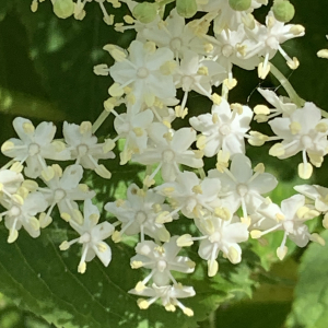
<path id="1" fill-rule="evenodd" d="M 86 185 L 79 185 L 83 176 L 82 166 L 70 165 L 63 173 L 57 164 L 52 165 L 52 168 L 55 172 L 54 178 L 48 181 L 45 180 L 48 188 L 38 188 L 50 207 L 46 216 L 43 218 L 44 223 L 51 221 L 49 215 L 56 204 L 62 219 L 69 221 L 73 218 L 78 223 L 82 223 L 83 218 L 74 200 L 85 200 L 95 196 L 95 192 L 90 191 Z"/>

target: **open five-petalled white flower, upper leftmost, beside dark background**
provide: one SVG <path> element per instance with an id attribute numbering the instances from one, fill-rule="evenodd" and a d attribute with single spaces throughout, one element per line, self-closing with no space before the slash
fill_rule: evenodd
<path id="1" fill-rule="evenodd" d="M 50 179 L 54 173 L 48 169 L 45 159 L 56 161 L 70 159 L 63 142 L 52 141 L 56 133 L 52 122 L 44 121 L 34 128 L 30 119 L 16 117 L 13 127 L 20 139 L 9 139 L 2 144 L 1 151 L 14 161 L 26 162 L 24 172 L 28 177 L 36 178 L 43 174 L 46 179 Z"/>

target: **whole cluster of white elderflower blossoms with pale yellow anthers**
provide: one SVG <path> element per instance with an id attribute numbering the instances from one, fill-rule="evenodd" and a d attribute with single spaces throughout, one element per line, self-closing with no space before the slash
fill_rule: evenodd
<path id="1" fill-rule="evenodd" d="M 186 1 L 190 1 L 186 5 Z M 51 0 L 59 17 L 74 15 L 82 20 L 86 2 Z M 104 21 L 114 24 L 104 0 L 98 2 Z M 279 52 L 292 69 L 298 67 L 296 57 L 290 57 L 282 44 L 304 35 L 302 25 L 285 24 L 293 16 L 293 8 L 281 13 L 280 2 L 268 12 L 261 24 L 254 11 L 267 4 L 266 0 L 180 0 L 164 17 L 165 4 L 172 1 L 137 3 L 131 0 L 110 0 L 114 8 L 125 2 L 131 14 L 125 23 L 117 22 L 116 31 L 136 31 L 136 39 L 128 50 L 108 44 L 104 50 L 115 60 L 108 67 L 94 67 L 97 75 L 113 79 L 109 98 L 104 102 L 104 113 L 94 125 L 63 124 L 61 140 L 54 140 L 56 127 L 42 122 L 36 128 L 28 119 L 15 118 L 14 129 L 20 139 L 10 139 L 1 151 L 12 159 L 0 171 L 1 204 L 5 208 L 5 226 L 9 243 L 17 238 L 23 226 L 32 237 L 52 221 L 57 206 L 60 216 L 80 235 L 63 241 L 60 249 L 82 244 L 78 271 L 84 273 L 86 262 L 95 256 L 108 266 L 112 251 L 104 241 L 112 236 L 114 243 L 125 236 L 138 236 L 132 269 L 145 268 L 150 273 L 137 283 L 130 293 L 139 298 L 141 309 L 160 300 L 166 311 L 179 307 L 187 316 L 191 308 L 178 298 L 196 294 L 192 286 L 179 283 L 174 273 L 192 273 L 196 263 L 179 256 L 183 247 L 200 242 L 198 255 L 207 261 L 208 276 L 219 271 L 219 255 L 236 265 L 242 260 L 241 243 L 249 236 L 260 238 L 267 233 L 283 231 L 277 255 L 283 259 L 288 253 L 289 237 L 304 247 L 309 241 L 324 244 L 316 233 L 311 233 L 306 221 L 324 214 L 328 227 L 328 189 L 320 186 L 296 186 L 300 194 L 281 202 L 272 202 L 267 195 L 278 185 L 277 178 L 265 172 L 265 165 L 253 167 L 246 155 L 246 142 L 260 147 L 272 144 L 269 154 L 286 159 L 302 153 L 298 175 L 308 179 L 313 166 L 319 167 L 328 153 L 328 120 L 313 103 L 303 102 L 284 80 L 289 97 L 258 89 L 269 103 L 249 108 L 229 101 L 230 91 L 237 85 L 233 68 L 258 71 L 260 79 L 277 68 L 270 59 Z M 191 5 L 191 4 L 192 5 Z M 36 11 L 38 0 L 33 0 Z M 291 5 L 291 4 L 290 4 Z M 186 20 L 199 11 L 199 19 Z M 286 19 L 289 17 L 289 19 Z M 213 31 L 213 33 L 210 33 Z M 218 87 L 221 87 L 221 95 Z M 183 97 L 177 98 L 181 89 Z M 177 119 L 185 119 L 191 105 L 190 92 L 210 99 L 211 108 L 199 108 L 199 115 L 189 117 L 185 127 L 175 129 Z M 126 112 L 116 107 L 125 105 Z M 106 117 L 115 115 L 116 137 L 98 143 L 94 136 Z M 268 122 L 272 136 L 250 130 L 251 120 Z M 119 152 L 120 165 L 136 162 L 147 166 L 143 186 L 131 184 L 126 199 L 105 204 L 105 210 L 116 221 L 98 223 L 99 210 L 92 203 L 95 192 L 80 184 L 84 169 L 110 178 L 110 172 L 99 160 L 113 159 L 116 142 L 125 140 Z M 216 159 L 216 167 L 204 171 L 208 157 Z M 72 161 L 62 168 L 47 161 Z M 24 169 L 24 175 L 22 172 Z M 155 179 L 162 180 L 155 186 Z M 37 181 L 35 180 L 37 179 Z M 78 201 L 84 201 L 83 214 Z M 37 218 L 38 215 L 38 218 Z M 194 235 L 172 236 L 169 223 L 189 219 L 197 227 Z"/>

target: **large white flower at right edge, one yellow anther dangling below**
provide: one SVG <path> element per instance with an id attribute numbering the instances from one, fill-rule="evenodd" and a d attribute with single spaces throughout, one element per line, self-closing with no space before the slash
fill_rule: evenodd
<path id="1" fill-rule="evenodd" d="M 302 152 L 303 164 L 298 165 L 298 174 L 302 178 L 311 177 L 313 167 L 307 163 L 306 154 L 317 167 L 327 154 L 328 119 L 321 119 L 320 109 L 313 103 L 305 103 L 290 117 L 274 118 L 269 125 L 278 138 L 283 139 L 269 153 L 282 160 Z"/>

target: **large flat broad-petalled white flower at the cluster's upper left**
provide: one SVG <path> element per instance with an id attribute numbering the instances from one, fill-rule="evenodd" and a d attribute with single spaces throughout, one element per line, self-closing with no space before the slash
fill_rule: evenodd
<path id="1" fill-rule="evenodd" d="M 133 40 L 129 47 L 129 57 L 124 50 L 113 46 L 109 46 L 109 52 L 119 60 L 109 68 L 112 78 L 119 84 L 115 91 L 112 87 L 113 96 L 121 95 L 122 89 L 130 86 L 136 102 L 145 102 L 148 106 L 154 104 L 155 97 L 175 97 L 176 90 L 169 72 L 173 52 L 168 48 L 156 49 L 154 44 L 152 46 L 151 43 Z"/>

